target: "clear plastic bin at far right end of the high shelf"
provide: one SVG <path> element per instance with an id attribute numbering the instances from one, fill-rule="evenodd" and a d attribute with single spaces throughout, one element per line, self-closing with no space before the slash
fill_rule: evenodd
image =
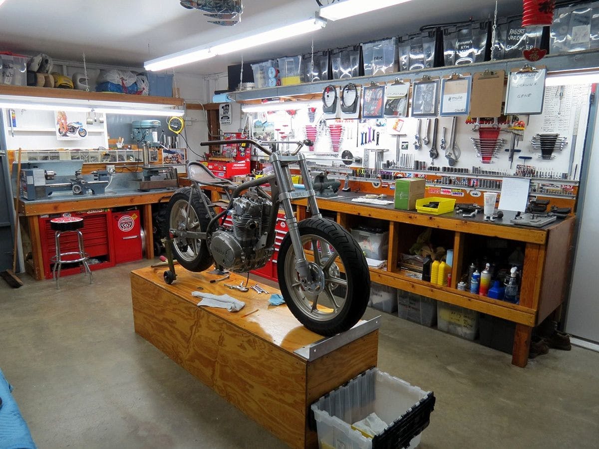
<path id="1" fill-rule="evenodd" d="M 599 1 L 556 8 L 551 26 L 550 53 L 599 48 Z"/>

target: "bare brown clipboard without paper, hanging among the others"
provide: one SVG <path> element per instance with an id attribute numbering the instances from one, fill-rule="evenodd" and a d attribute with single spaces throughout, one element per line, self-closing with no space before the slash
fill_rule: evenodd
<path id="1" fill-rule="evenodd" d="M 499 117 L 503 103 L 506 71 L 485 70 L 472 76 L 471 117 Z"/>

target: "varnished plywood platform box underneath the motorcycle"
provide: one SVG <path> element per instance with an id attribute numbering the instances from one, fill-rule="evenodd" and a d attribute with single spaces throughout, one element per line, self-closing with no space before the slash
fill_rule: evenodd
<path id="1" fill-rule="evenodd" d="M 135 332 L 291 447 L 317 447 L 308 429 L 310 404 L 377 365 L 378 330 L 309 361 L 294 351 L 322 336 L 299 324 L 285 305 L 271 307 L 270 295 L 237 292 L 223 282 L 210 284 L 217 276 L 176 269 L 173 285 L 162 279 L 164 268 L 131 272 Z M 232 274 L 226 282 L 245 280 Z M 246 307 L 237 313 L 199 308 L 191 296 L 198 287 Z"/>

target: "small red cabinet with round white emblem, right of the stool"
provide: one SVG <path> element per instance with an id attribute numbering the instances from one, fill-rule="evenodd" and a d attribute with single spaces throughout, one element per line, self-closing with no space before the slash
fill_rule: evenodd
<path id="1" fill-rule="evenodd" d="M 114 263 L 140 260 L 142 257 L 140 211 L 134 209 L 113 212 L 110 221 L 114 241 Z"/>

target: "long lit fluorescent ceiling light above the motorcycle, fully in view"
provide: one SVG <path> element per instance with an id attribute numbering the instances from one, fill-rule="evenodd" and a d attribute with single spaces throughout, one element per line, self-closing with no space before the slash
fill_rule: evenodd
<path id="1" fill-rule="evenodd" d="M 144 68 L 150 71 L 159 71 L 176 67 L 179 65 L 198 62 L 219 54 L 233 53 L 234 51 L 246 50 L 247 48 L 258 47 L 258 45 L 270 44 L 287 38 L 292 38 L 312 31 L 317 31 L 326 26 L 326 20 L 320 17 L 302 20 L 302 22 L 292 23 L 291 25 L 281 26 L 280 28 L 263 29 L 262 31 L 253 31 L 241 37 L 232 38 L 228 41 L 216 43 L 213 47 L 193 47 L 189 50 L 182 50 L 177 53 L 168 54 L 157 59 L 144 62 Z"/>

